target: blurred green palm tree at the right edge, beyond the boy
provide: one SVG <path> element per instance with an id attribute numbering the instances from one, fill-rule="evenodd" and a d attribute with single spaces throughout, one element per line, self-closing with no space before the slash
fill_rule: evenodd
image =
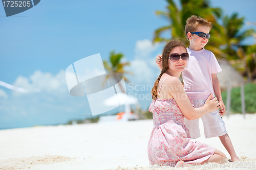
<path id="1" fill-rule="evenodd" d="M 255 34 L 253 29 L 241 31 L 244 17 L 233 13 L 230 17 L 223 17 L 224 41 L 223 53 L 229 62 L 238 70 L 243 71 L 248 82 L 253 79 L 255 70 L 255 45 L 243 45 L 242 41 Z"/>

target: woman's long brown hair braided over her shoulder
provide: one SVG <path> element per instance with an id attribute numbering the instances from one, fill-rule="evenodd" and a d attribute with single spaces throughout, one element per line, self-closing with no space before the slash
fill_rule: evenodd
<path id="1" fill-rule="evenodd" d="M 168 57 L 170 56 L 170 52 L 172 52 L 173 48 L 176 47 L 176 46 L 182 46 L 187 51 L 186 46 L 180 40 L 171 40 L 165 45 L 165 47 L 163 48 L 163 55 L 162 55 L 163 69 L 161 71 L 161 74 L 159 75 L 159 77 L 155 81 L 155 84 L 154 84 L 154 86 L 152 88 L 152 91 L 151 91 L 153 100 L 156 100 L 157 97 L 158 97 L 157 87 L 158 87 L 158 84 L 159 84 L 159 80 L 161 79 L 161 76 L 164 74 L 164 72 L 168 69 Z"/>

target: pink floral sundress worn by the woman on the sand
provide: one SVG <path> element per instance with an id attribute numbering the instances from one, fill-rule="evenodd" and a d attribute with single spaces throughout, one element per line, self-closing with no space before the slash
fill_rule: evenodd
<path id="1" fill-rule="evenodd" d="M 215 148 L 190 139 L 184 116 L 174 99 L 157 99 L 148 110 L 153 113 L 154 123 L 147 147 L 151 164 L 169 165 L 180 160 L 198 164 L 214 154 Z"/>

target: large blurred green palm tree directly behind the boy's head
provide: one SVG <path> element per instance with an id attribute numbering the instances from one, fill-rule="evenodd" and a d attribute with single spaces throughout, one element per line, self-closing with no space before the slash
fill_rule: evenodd
<path id="1" fill-rule="evenodd" d="M 184 43 L 188 45 L 185 35 L 186 20 L 191 15 L 201 16 L 212 23 L 211 37 L 208 42 L 207 49 L 216 55 L 222 55 L 218 46 L 223 44 L 219 39 L 222 31 L 221 26 L 217 23 L 217 18 L 221 17 L 220 8 L 211 8 L 208 0 L 180 0 L 181 9 L 172 0 L 166 0 L 168 5 L 166 11 L 156 11 L 156 15 L 167 19 L 168 25 L 157 29 L 154 32 L 153 42 L 166 42 L 172 38 L 182 38 Z M 164 32 L 170 32 L 170 37 L 162 37 Z"/>

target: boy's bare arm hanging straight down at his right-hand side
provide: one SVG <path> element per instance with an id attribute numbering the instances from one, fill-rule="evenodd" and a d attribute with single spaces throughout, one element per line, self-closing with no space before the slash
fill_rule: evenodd
<path id="1" fill-rule="evenodd" d="M 223 115 L 226 112 L 226 107 L 222 101 L 219 79 L 216 74 L 211 74 L 211 78 L 212 78 L 212 86 L 214 87 L 214 93 L 220 103 L 220 108 L 221 108 L 220 114 Z"/>

